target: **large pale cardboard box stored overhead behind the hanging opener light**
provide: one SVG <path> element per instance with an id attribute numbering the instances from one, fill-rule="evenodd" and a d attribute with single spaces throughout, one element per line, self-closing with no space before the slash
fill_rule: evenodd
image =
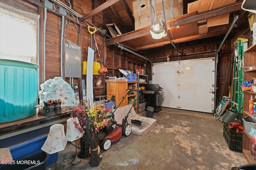
<path id="1" fill-rule="evenodd" d="M 173 0 L 172 8 L 171 1 L 165 1 L 165 9 L 166 9 L 166 20 L 170 20 L 172 18 L 176 18 L 178 16 L 183 15 L 183 0 Z M 151 17 L 150 14 L 150 1 L 149 0 L 141 0 L 140 4 L 138 1 L 132 2 L 133 7 L 133 15 L 134 15 L 134 24 L 135 30 L 141 29 L 151 25 Z M 140 7 L 140 8 L 138 8 Z M 155 10 L 152 8 L 152 15 L 155 14 L 156 20 L 153 19 L 154 22 L 157 23 L 160 19 L 164 20 L 164 10 L 161 0 L 155 0 Z M 141 16 L 139 14 L 139 9 Z"/>

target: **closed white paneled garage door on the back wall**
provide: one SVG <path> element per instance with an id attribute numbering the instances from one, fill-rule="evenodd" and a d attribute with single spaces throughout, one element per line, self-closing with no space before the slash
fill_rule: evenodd
<path id="1" fill-rule="evenodd" d="M 155 63 L 152 80 L 163 88 L 162 107 L 212 113 L 215 80 L 213 59 Z"/>

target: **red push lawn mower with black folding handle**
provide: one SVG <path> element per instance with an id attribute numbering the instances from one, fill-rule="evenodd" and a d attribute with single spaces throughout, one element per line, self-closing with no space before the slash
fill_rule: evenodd
<path id="1" fill-rule="evenodd" d="M 141 94 L 141 91 L 127 89 L 126 95 L 122 97 L 122 100 L 120 101 L 118 106 L 116 106 L 116 108 L 114 109 L 114 111 L 111 114 L 111 117 L 113 118 L 113 120 L 106 127 L 104 127 L 102 129 L 102 131 L 100 131 L 98 133 L 98 145 L 101 147 L 101 149 L 108 150 L 110 148 L 112 142 L 115 142 L 115 141 L 118 141 L 119 139 L 121 139 L 122 135 L 129 136 L 130 133 L 132 132 L 132 125 L 128 122 L 128 117 L 130 115 L 130 111 L 132 110 L 133 105 L 129 109 L 127 115 L 122 119 L 122 124 L 116 123 L 116 120 L 114 120 L 114 113 L 115 113 L 116 109 L 120 106 L 120 104 L 122 103 L 124 98 L 128 94 L 132 94 L 135 91 L 137 92 L 137 98 L 136 98 L 135 102 L 138 100 L 138 98 Z"/>

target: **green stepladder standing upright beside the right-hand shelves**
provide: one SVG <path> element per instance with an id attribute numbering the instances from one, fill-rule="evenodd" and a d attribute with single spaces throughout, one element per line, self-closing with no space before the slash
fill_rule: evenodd
<path id="1" fill-rule="evenodd" d="M 248 39 L 238 38 L 235 45 L 234 55 L 234 72 L 233 72 L 233 90 L 232 90 L 232 102 L 237 107 L 232 108 L 234 111 L 240 110 L 244 105 L 244 92 L 239 84 L 244 84 L 244 46 L 247 47 Z"/>

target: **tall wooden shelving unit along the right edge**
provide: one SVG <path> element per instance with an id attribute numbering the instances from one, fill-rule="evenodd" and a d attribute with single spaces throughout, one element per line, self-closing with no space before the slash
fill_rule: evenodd
<path id="1" fill-rule="evenodd" d="M 244 51 L 244 67 L 248 66 L 255 66 L 256 65 L 256 44 L 252 45 L 249 49 Z M 256 77 L 256 68 L 252 70 L 244 70 L 244 80 L 251 80 L 253 77 Z M 251 98 L 254 99 L 254 96 L 256 93 L 251 91 L 244 91 L 244 117 L 250 116 L 253 119 L 256 120 L 256 117 L 254 115 L 249 114 L 249 100 Z M 251 154 L 250 149 L 250 138 L 248 137 L 248 134 L 243 131 L 243 150 L 242 153 L 244 157 L 246 158 L 247 162 L 249 164 L 255 164 L 256 161 L 254 160 L 254 156 Z"/>

